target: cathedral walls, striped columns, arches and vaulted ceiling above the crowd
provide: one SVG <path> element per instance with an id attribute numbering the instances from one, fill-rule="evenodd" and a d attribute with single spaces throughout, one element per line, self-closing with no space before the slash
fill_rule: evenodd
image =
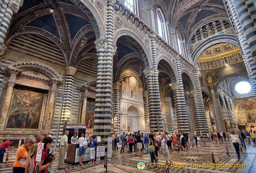
<path id="1" fill-rule="evenodd" d="M 1 0 L 1 138 L 256 129 L 255 7 Z"/>

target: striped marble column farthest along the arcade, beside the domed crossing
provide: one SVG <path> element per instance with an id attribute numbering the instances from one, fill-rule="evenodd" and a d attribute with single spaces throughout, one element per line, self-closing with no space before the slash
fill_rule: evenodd
<path id="1" fill-rule="evenodd" d="M 206 110 L 203 102 L 203 95 L 201 92 L 199 73 L 197 70 L 193 71 L 193 78 L 195 83 L 195 90 L 192 91 L 190 94 L 191 94 L 191 105 L 192 105 L 193 115 L 194 115 L 194 125 L 196 126 L 198 131 L 202 132 L 202 134 L 206 136 L 206 133 L 209 132 L 209 128 L 207 124 L 207 117 L 206 117 Z"/>

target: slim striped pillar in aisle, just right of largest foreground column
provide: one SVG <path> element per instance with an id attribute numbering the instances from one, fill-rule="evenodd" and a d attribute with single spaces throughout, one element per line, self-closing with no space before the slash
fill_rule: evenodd
<path id="1" fill-rule="evenodd" d="M 120 82 L 113 83 L 114 86 L 114 131 L 120 134 Z"/>

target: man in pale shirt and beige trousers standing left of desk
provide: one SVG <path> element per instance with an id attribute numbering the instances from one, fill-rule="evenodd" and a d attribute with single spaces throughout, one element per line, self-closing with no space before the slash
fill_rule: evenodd
<path id="1" fill-rule="evenodd" d="M 58 169 L 65 169 L 63 167 L 64 160 L 65 160 L 65 155 L 66 152 L 68 152 L 68 135 L 69 131 L 65 131 L 65 135 L 63 135 L 60 138 L 60 146 L 59 146 L 59 168 Z"/>

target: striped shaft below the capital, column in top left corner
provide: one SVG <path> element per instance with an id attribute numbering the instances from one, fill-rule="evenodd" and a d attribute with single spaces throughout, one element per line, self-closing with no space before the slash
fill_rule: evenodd
<path id="1" fill-rule="evenodd" d="M 4 44 L 5 37 L 9 25 L 11 24 L 14 9 L 9 5 L 9 2 L 1 1 L 1 11 L 0 11 L 0 50 L 2 50 L 2 45 Z"/>

